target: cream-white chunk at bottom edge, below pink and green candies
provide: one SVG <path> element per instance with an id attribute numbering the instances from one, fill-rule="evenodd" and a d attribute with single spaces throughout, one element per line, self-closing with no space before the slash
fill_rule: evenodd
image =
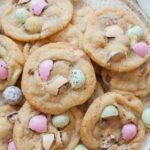
<path id="1" fill-rule="evenodd" d="M 55 140 L 54 134 L 42 135 L 44 150 L 50 150 L 54 140 Z"/>

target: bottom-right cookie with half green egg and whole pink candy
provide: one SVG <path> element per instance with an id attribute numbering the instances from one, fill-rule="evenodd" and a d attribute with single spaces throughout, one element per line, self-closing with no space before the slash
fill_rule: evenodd
<path id="1" fill-rule="evenodd" d="M 81 140 L 89 149 L 137 149 L 145 136 L 142 111 L 142 102 L 132 94 L 106 93 L 86 112 Z"/>

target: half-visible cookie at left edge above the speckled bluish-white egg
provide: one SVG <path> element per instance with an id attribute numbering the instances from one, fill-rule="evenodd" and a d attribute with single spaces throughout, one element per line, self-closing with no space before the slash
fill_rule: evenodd
<path id="1" fill-rule="evenodd" d="M 0 35 L 0 91 L 14 85 L 23 70 L 24 57 L 14 41 Z"/>

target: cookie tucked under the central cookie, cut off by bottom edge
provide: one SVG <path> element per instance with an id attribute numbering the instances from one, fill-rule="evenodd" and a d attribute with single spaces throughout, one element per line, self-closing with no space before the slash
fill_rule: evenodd
<path id="1" fill-rule="evenodd" d="M 45 115 L 28 103 L 18 113 L 13 137 L 19 150 L 72 150 L 80 140 L 82 113 L 72 108 L 63 114 Z"/>

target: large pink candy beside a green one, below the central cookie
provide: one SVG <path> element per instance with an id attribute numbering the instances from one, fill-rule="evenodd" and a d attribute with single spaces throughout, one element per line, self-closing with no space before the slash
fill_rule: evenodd
<path id="1" fill-rule="evenodd" d="M 37 115 L 31 118 L 29 121 L 28 128 L 38 132 L 44 133 L 47 132 L 47 118 L 44 115 Z"/>

